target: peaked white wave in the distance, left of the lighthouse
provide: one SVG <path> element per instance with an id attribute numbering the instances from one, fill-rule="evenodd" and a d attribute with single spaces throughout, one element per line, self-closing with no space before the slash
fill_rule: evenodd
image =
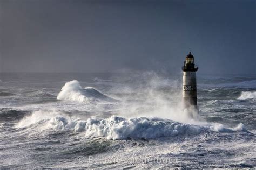
<path id="1" fill-rule="evenodd" d="M 58 100 L 70 100 L 77 102 L 108 101 L 117 102 L 92 87 L 82 88 L 77 80 L 66 82 L 57 96 Z"/>

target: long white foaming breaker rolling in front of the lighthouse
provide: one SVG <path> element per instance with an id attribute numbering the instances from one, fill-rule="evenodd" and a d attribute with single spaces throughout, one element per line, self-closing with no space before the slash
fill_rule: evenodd
<path id="1" fill-rule="evenodd" d="M 55 131 L 83 132 L 86 138 L 104 137 L 107 139 L 127 138 L 160 138 L 178 135 L 193 136 L 210 132 L 249 132 L 244 125 L 236 128 L 225 128 L 222 124 L 207 126 L 183 124 L 161 118 L 122 118 L 111 116 L 106 119 L 88 118 L 82 120 L 71 118 L 56 111 L 36 111 L 32 115 L 18 122 L 16 128 L 40 128 L 41 130 L 54 129 Z M 250 132 L 249 132 L 250 133 Z"/>

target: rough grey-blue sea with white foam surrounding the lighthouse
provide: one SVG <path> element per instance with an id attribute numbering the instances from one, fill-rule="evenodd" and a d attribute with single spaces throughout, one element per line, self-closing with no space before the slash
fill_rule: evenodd
<path id="1" fill-rule="evenodd" d="M 1 168 L 256 166 L 256 75 L 1 73 Z"/>

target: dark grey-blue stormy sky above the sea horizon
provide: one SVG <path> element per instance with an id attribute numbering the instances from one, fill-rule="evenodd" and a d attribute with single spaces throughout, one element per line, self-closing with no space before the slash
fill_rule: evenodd
<path id="1" fill-rule="evenodd" d="M 0 72 L 254 73 L 255 1 L 0 0 Z"/>

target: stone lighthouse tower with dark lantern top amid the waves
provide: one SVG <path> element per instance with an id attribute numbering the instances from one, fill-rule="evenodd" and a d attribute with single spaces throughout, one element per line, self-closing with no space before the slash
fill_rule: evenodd
<path id="1" fill-rule="evenodd" d="M 191 52 L 186 56 L 183 70 L 183 102 L 185 107 L 197 108 L 197 76 L 198 66 L 194 65 L 194 56 Z"/>

